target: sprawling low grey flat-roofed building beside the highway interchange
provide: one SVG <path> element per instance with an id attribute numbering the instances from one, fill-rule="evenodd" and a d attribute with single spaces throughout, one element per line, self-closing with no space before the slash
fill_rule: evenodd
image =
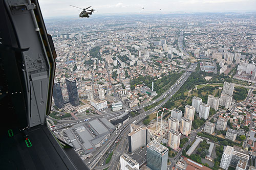
<path id="1" fill-rule="evenodd" d="M 106 118 L 97 118 L 65 130 L 63 138 L 76 151 L 83 150 L 84 154 L 88 154 L 108 140 L 115 129 Z"/>

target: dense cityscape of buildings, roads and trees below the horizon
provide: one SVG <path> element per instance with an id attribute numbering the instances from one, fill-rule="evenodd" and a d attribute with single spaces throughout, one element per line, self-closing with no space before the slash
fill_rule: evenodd
<path id="1" fill-rule="evenodd" d="M 90 169 L 255 169 L 255 18 L 45 19 L 50 130 Z"/>

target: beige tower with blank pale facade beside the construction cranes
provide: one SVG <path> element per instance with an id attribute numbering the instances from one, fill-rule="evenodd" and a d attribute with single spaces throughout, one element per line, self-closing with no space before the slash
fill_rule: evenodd
<path id="1" fill-rule="evenodd" d="M 147 144 L 147 128 L 131 124 L 131 132 L 128 134 L 129 152 L 134 152 Z"/>

